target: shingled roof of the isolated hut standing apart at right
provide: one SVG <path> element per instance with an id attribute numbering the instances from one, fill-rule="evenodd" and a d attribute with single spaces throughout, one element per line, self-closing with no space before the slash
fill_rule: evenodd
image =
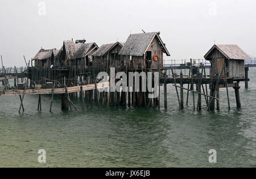
<path id="1" fill-rule="evenodd" d="M 237 45 L 213 45 L 204 58 L 207 59 L 209 54 L 214 49 L 219 50 L 228 59 L 251 59 L 239 46 Z"/>

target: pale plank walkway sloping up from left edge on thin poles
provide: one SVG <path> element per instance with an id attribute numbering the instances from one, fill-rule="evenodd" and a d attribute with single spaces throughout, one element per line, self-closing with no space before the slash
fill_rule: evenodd
<path id="1" fill-rule="evenodd" d="M 96 87 L 94 83 L 87 84 L 85 86 L 67 87 L 67 90 L 68 90 L 68 93 L 80 92 L 81 87 L 82 87 L 82 91 L 95 90 L 96 87 L 97 89 L 108 88 L 109 82 L 97 83 Z M 25 95 L 52 95 L 52 90 L 53 89 L 40 89 L 40 90 L 27 89 L 25 90 L 25 92 L 24 90 L 5 90 L 5 91 L 0 91 L 0 94 L 2 93 L 2 96 L 16 96 L 16 95 L 23 95 L 23 92 L 24 92 Z M 65 88 L 54 89 L 54 94 L 64 94 L 64 93 L 66 93 Z"/>

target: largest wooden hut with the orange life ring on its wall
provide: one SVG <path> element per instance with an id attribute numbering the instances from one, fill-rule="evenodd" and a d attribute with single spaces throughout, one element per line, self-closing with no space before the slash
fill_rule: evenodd
<path id="1" fill-rule="evenodd" d="M 128 69 L 158 69 L 158 61 L 153 59 L 155 55 L 159 57 L 160 68 L 163 68 L 163 53 L 167 56 L 170 56 L 170 53 L 159 35 L 160 32 L 150 32 L 131 34 L 128 37 L 119 52 L 125 59 L 127 58 Z"/>

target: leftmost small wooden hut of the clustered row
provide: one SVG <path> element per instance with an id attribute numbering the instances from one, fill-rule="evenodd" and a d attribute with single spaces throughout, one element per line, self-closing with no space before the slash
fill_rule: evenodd
<path id="1" fill-rule="evenodd" d="M 36 56 L 32 59 L 32 61 L 35 61 L 35 67 L 41 69 L 50 68 L 51 65 L 53 65 L 54 63 L 54 57 L 57 54 L 57 52 L 58 50 L 56 49 L 40 49 Z"/>

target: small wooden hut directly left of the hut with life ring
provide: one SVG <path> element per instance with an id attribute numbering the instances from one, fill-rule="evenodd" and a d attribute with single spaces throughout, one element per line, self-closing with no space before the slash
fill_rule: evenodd
<path id="1" fill-rule="evenodd" d="M 93 53 L 95 59 L 94 63 L 96 63 L 96 65 L 100 65 L 99 63 L 101 63 L 104 67 L 121 67 L 123 61 L 121 61 L 119 52 L 124 44 L 124 42 L 115 42 L 101 45 L 100 48 Z"/>

